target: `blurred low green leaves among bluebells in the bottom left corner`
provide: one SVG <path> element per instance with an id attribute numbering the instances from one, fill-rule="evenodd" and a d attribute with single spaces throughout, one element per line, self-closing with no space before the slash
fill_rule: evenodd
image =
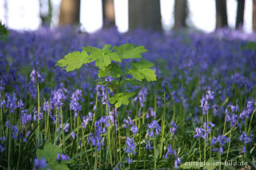
<path id="1" fill-rule="evenodd" d="M 37 150 L 37 157 L 38 159 L 45 158 L 47 163 L 47 168 L 53 170 L 69 170 L 70 168 L 67 167 L 66 164 L 70 164 L 71 160 L 60 161 L 58 162 L 57 156 L 58 153 L 62 152 L 62 148 L 55 147 L 53 144 L 46 143 L 43 149 Z"/>

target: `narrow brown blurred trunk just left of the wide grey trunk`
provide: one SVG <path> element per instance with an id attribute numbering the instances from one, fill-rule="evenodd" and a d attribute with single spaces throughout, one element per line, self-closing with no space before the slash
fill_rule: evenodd
<path id="1" fill-rule="evenodd" d="M 115 26 L 114 0 L 102 0 L 103 27 Z"/>

